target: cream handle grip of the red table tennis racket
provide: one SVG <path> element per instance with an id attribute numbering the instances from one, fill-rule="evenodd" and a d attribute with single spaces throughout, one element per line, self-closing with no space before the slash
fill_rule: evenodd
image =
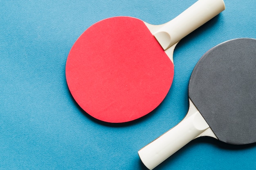
<path id="1" fill-rule="evenodd" d="M 166 50 L 224 10 L 223 0 L 198 0 L 173 20 L 163 24 L 154 36 Z"/>

